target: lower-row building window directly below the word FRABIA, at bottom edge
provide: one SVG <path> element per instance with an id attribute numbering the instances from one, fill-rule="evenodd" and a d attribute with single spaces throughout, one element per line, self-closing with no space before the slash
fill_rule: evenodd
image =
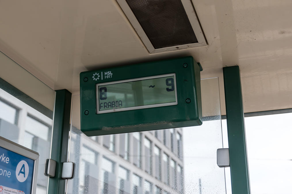
<path id="1" fill-rule="evenodd" d="M 102 158 L 101 181 L 103 182 L 103 194 L 115 193 L 116 175 L 114 174 L 114 162 L 106 157 Z"/>

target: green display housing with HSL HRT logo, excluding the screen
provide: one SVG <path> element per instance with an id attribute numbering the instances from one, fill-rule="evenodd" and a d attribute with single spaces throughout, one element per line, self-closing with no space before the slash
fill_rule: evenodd
<path id="1" fill-rule="evenodd" d="M 187 65 L 186 65 L 186 64 Z M 185 64 L 185 65 L 184 65 Z M 186 67 L 187 66 L 187 67 Z M 96 79 L 111 71 L 110 79 Z M 178 104 L 97 114 L 96 84 L 176 74 Z M 95 78 L 95 80 L 93 79 Z M 191 99 L 186 103 L 186 99 Z M 191 56 L 80 73 L 81 131 L 87 136 L 149 131 L 202 124 L 200 68 Z"/>

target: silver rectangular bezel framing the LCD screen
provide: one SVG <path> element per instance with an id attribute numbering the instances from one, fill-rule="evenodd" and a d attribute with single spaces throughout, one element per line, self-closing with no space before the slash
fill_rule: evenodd
<path id="1" fill-rule="evenodd" d="M 142 105 L 142 106 L 132 106 L 132 107 L 127 107 L 127 108 L 117 108 L 117 109 L 110 109 L 110 110 L 103 110 L 103 111 L 99 110 L 99 89 L 98 89 L 98 86 L 105 86 L 105 85 L 110 85 L 110 84 L 126 83 L 126 82 L 140 81 L 140 80 L 147 80 L 147 79 L 155 79 L 155 78 L 162 78 L 162 77 L 169 77 L 169 76 L 174 76 L 175 102 L 168 102 L 168 103 L 161 103 L 161 104 L 150 104 L 150 105 Z M 154 107 L 161 107 L 161 106 L 172 106 L 172 105 L 177 105 L 177 104 L 178 104 L 178 95 L 177 95 L 175 73 L 162 74 L 162 75 L 157 75 L 157 76 L 140 77 L 140 78 L 136 78 L 136 79 L 125 79 L 125 80 L 120 80 L 120 81 L 112 81 L 112 82 L 97 83 L 96 84 L 96 113 L 97 114 L 129 111 L 129 110 L 138 110 L 138 109 L 154 108 Z"/>

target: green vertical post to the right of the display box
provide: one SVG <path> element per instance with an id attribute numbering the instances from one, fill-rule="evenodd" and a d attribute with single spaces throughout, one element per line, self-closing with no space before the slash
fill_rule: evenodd
<path id="1" fill-rule="evenodd" d="M 250 194 L 239 66 L 224 67 L 223 76 L 232 193 Z"/>

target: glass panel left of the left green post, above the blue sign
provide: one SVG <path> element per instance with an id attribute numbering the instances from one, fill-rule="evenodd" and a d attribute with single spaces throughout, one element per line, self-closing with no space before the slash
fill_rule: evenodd
<path id="1" fill-rule="evenodd" d="M 1 52 L 0 65 L 0 136 L 39 153 L 36 193 L 46 194 L 55 91 Z"/>

